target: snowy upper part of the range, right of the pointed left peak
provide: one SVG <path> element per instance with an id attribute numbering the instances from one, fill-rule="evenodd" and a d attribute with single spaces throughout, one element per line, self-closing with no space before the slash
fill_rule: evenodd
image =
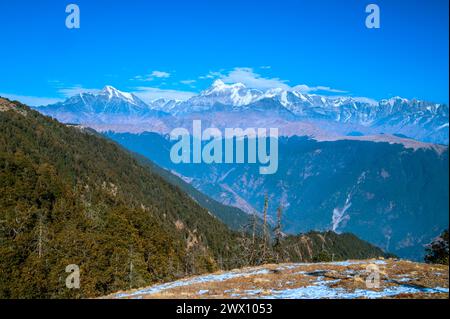
<path id="1" fill-rule="evenodd" d="M 174 115 L 214 111 L 216 106 L 228 111 L 284 108 L 297 119 L 330 120 L 363 126 L 428 125 L 434 129 L 448 128 L 448 106 L 393 97 L 380 102 L 352 97 L 330 97 L 274 88 L 265 92 L 247 88 L 242 83 L 227 85 L 221 80 L 185 102 L 153 105 L 152 109 Z M 223 109 L 223 108 L 222 108 Z M 226 108 L 225 108 L 226 109 Z"/>

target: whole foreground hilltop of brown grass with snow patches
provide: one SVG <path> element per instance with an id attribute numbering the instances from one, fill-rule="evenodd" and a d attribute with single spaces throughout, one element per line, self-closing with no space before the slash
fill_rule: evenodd
<path id="1" fill-rule="evenodd" d="M 448 266 L 396 259 L 270 264 L 117 292 L 106 298 L 449 298 L 448 274 Z"/>

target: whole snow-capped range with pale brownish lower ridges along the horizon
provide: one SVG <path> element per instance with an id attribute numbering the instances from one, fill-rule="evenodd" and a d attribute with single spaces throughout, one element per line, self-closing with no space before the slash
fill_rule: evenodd
<path id="1" fill-rule="evenodd" d="M 282 135 L 346 136 L 393 134 L 448 144 L 449 108 L 420 100 L 323 96 L 242 83 L 213 85 L 186 101 L 145 103 L 131 93 L 106 86 L 64 102 L 37 108 L 63 122 L 100 130 L 157 131 L 189 125 L 193 118 L 217 127 L 278 127 Z"/>

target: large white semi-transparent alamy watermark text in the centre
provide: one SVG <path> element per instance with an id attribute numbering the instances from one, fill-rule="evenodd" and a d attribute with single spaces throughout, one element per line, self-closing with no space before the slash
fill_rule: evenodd
<path id="1" fill-rule="evenodd" d="M 170 150 L 175 164 L 259 163 L 260 174 L 278 170 L 278 128 L 225 128 L 222 134 L 214 127 L 202 131 L 201 120 L 194 120 L 192 137 L 187 129 L 176 128 L 170 139 L 178 141 Z"/>

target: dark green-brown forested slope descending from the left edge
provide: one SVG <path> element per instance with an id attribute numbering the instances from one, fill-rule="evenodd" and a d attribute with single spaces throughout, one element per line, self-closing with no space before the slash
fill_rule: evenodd
<path id="1" fill-rule="evenodd" d="M 232 267 L 235 235 L 115 143 L 0 100 L 0 296 L 95 296 Z M 65 288 L 65 267 L 81 270 Z"/>

